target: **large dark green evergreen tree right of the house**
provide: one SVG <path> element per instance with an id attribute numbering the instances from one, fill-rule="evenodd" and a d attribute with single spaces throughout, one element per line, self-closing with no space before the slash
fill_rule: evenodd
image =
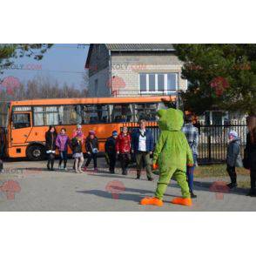
<path id="1" fill-rule="evenodd" d="M 256 114 L 256 44 L 174 44 L 189 81 L 184 108 Z"/>

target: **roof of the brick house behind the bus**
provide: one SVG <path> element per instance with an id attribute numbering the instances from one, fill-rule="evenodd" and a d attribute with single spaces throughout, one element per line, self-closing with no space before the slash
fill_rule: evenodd
<path id="1" fill-rule="evenodd" d="M 109 51 L 175 51 L 172 44 L 104 44 Z M 90 44 L 84 68 L 89 66 L 93 44 Z"/>

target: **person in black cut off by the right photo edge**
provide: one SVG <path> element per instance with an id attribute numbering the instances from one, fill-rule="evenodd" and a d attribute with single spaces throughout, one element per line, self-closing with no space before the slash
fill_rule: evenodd
<path id="1" fill-rule="evenodd" d="M 246 136 L 245 158 L 246 169 L 250 170 L 251 189 L 248 196 L 256 197 L 256 116 L 247 119 L 248 134 Z"/>

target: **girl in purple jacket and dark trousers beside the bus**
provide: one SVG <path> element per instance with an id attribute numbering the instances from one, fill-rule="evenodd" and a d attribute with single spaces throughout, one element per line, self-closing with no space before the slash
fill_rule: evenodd
<path id="1" fill-rule="evenodd" d="M 66 171 L 66 165 L 68 160 L 68 145 L 70 143 L 70 138 L 66 134 L 66 129 L 61 128 L 60 133 L 57 135 L 56 145 L 59 151 L 59 163 L 58 169 L 61 170 L 62 161 L 64 161 L 64 170 Z"/>

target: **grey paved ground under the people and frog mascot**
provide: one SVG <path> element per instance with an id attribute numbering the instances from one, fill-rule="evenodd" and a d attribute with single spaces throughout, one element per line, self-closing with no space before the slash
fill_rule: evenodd
<path id="1" fill-rule="evenodd" d="M 175 181 L 167 188 L 163 207 L 142 206 L 139 200 L 153 195 L 158 177 L 150 182 L 145 175 L 134 179 L 132 170 L 125 177 L 110 174 L 104 159 L 99 162 L 98 172 L 84 174 L 71 172 L 72 160 L 69 172 L 46 171 L 44 162 L 5 163 L 0 174 L 0 211 L 256 211 L 256 198 L 246 197 L 246 190 L 215 192 L 212 184 L 221 183 L 219 179 L 195 180 L 198 199 L 192 207 L 169 203 L 180 195 Z"/>

